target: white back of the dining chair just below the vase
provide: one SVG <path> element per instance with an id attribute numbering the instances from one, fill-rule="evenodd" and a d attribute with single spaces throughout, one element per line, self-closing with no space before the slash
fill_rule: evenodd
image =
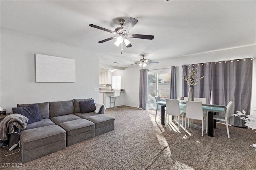
<path id="1" fill-rule="evenodd" d="M 191 119 L 203 119 L 202 102 L 186 101 L 186 117 Z"/>

